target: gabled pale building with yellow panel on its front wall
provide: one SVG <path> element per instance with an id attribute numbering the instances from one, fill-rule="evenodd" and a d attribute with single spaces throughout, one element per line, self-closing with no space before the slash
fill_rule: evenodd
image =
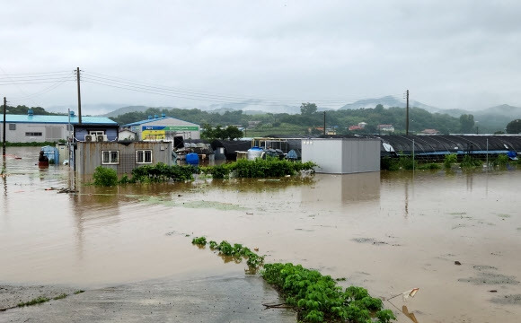
<path id="1" fill-rule="evenodd" d="M 176 136 L 182 136 L 185 141 L 200 139 L 199 125 L 177 118 L 166 117 L 164 113 L 161 118 L 149 116 L 146 120 L 129 123 L 122 127 L 135 132 L 137 141 L 172 141 Z"/>

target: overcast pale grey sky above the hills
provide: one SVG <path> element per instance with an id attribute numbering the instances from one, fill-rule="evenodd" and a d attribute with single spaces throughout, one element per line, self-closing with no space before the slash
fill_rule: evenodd
<path id="1" fill-rule="evenodd" d="M 338 108 L 409 89 L 442 109 L 521 106 L 520 16 L 517 0 L 4 1 L 0 96 L 75 106 L 79 66 L 84 104 Z"/>

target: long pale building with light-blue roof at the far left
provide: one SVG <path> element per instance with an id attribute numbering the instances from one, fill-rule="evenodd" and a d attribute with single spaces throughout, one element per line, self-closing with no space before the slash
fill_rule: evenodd
<path id="1" fill-rule="evenodd" d="M 1 120 L 1 119 L 0 119 Z M 3 121 L 3 120 L 1 120 Z M 0 134 L 4 123 L 0 122 Z M 114 141 L 118 138 L 118 123 L 105 117 L 83 117 L 82 124 L 75 116 L 34 115 L 32 110 L 27 115 L 5 115 L 5 141 L 10 143 L 43 143 L 71 141 Z"/>

